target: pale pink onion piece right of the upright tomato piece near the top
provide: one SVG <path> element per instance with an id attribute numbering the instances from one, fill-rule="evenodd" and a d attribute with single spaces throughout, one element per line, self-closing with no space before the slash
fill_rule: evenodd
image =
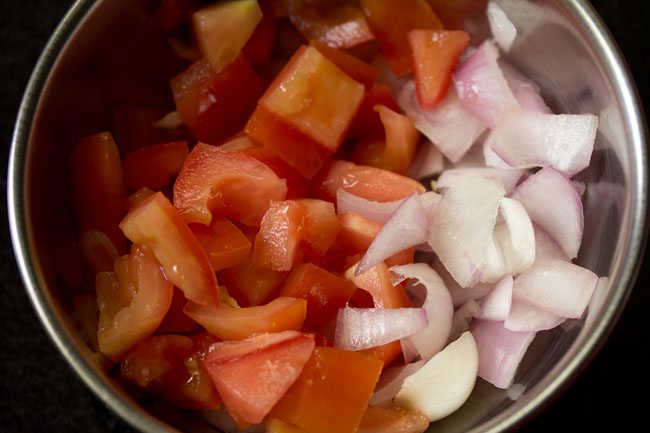
<path id="1" fill-rule="evenodd" d="M 519 108 L 498 59 L 499 50 L 488 40 L 454 72 L 460 105 L 489 127 L 494 127 L 507 111 Z"/>

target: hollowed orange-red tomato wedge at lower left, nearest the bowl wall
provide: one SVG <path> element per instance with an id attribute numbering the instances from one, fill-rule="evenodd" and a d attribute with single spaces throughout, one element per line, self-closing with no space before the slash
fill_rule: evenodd
<path id="1" fill-rule="evenodd" d="M 115 261 L 115 272 L 96 275 L 100 351 L 117 359 L 150 336 L 172 302 L 173 286 L 160 264 L 143 249 Z"/>

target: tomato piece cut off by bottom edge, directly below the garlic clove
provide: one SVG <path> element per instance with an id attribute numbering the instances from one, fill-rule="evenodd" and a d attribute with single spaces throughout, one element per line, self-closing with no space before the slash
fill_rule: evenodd
<path id="1" fill-rule="evenodd" d="M 413 409 L 387 401 L 368 406 L 357 433 L 423 433 L 429 428 L 429 417 Z"/>

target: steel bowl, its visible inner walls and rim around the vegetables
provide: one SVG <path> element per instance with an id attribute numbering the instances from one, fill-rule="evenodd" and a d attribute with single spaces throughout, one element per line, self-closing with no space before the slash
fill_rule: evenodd
<path id="1" fill-rule="evenodd" d="M 556 112 L 600 118 L 591 165 L 578 176 L 586 185 L 578 263 L 608 280 L 597 288 L 582 319 L 537 336 L 516 387 L 498 390 L 479 380 L 469 401 L 432 424 L 431 432 L 508 430 L 568 387 L 615 325 L 645 241 L 646 127 L 634 83 L 609 32 L 586 1 L 498 2 L 519 30 L 509 61 L 540 84 Z M 79 275 L 62 253 L 74 242 L 74 217 L 68 180 L 61 173 L 68 172 L 71 148 L 80 136 L 108 127 L 107 107 L 124 87 L 114 77 L 133 54 L 129 47 L 162 40 L 151 25 L 151 7 L 148 0 L 78 0 L 55 30 L 16 123 L 8 179 L 11 234 L 39 319 L 81 380 L 108 407 L 142 431 L 211 431 L 190 412 L 135 401 L 105 373 L 70 314 L 70 286 Z M 143 94 L 151 90 L 154 98 L 166 91 L 158 84 L 127 83 L 150 86 Z"/>

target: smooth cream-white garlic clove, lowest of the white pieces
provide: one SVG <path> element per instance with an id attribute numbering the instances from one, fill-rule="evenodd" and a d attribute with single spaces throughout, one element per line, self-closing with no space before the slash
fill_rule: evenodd
<path id="1" fill-rule="evenodd" d="M 404 380 L 395 402 L 419 410 L 435 421 L 446 417 L 467 400 L 479 366 L 479 355 L 472 334 L 460 338 L 427 361 Z"/>

